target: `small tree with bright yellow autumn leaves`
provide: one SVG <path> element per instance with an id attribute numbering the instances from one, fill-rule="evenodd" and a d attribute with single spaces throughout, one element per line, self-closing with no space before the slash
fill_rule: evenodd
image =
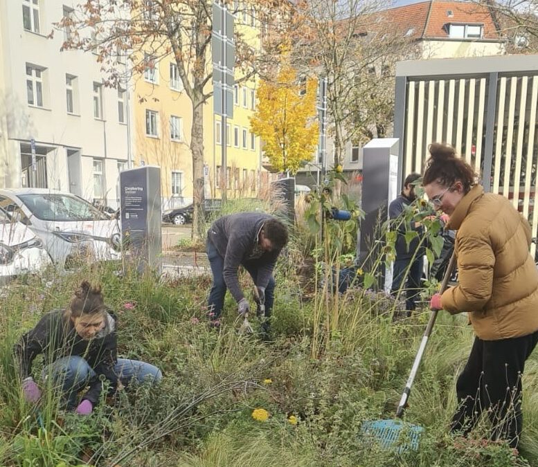
<path id="1" fill-rule="evenodd" d="M 279 172 L 296 174 L 301 163 L 314 156 L 319 134 L 316 87 L 314 79 L 298 82 L 296 70 L 288 64 L 280 68 L 276 80 L 260 83 L 251 131 L 260 136 L 266 156 Z"/>

